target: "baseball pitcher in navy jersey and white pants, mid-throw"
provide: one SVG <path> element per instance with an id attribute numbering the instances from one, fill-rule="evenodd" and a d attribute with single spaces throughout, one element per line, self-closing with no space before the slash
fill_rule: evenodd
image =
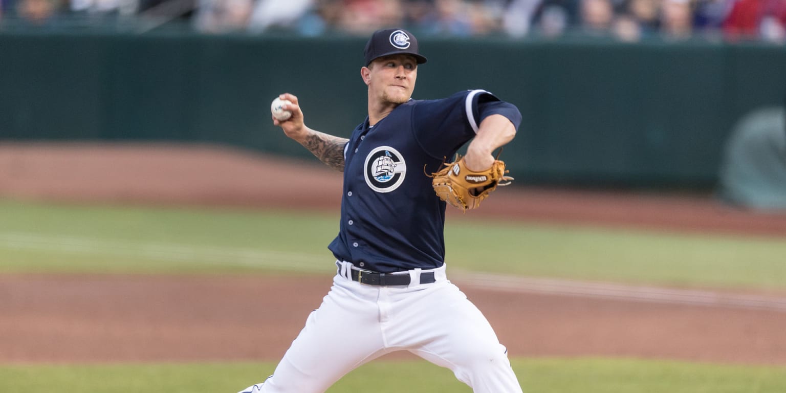
<path id="1" fill-rule="evenodd" d="M 274 125 L 343 171 L 340 231 L 329 245 L 337 273 L 274 374 L 241 393 L 323 392 L 393 351 L 447 367 L 476 392 L 521 391 L 489 322 L 447 279 L 446 203 L 424 174 L 470 140 L 466 167 L 490 167 L 492 152 L 512 140 L 521 114 L 485 90 L 411 99 L 425 62 L 409 31 L 373 33 L 360 70 L 368 117 L 349 139 L 307 127 L 297 97 L 281 94 L 291 113 L 285 120 L 274 116 Z"/>

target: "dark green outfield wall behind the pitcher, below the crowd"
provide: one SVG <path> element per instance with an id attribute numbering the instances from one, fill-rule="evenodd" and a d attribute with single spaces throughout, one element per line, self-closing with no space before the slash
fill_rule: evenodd
<path id="1" fill-rule="evenodd" d="M 270 124 L 365 118 L 365 39 L 0 33 L 0 139 L 218 142 L 310 157 Z M 784 105 L 786 48 L 710 42 L 421 39 L 415 98 L 483 88 L 519 106 L 521 183 L 711 187 L 745 114 Z"/>

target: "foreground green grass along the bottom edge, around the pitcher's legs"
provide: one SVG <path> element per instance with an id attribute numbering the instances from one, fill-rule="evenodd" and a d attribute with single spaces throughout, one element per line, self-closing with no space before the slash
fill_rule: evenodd
<path id="1" fill-rule="evenodd" d="M 786 368 L 637 359 L 513 359 L 524 391 L 538 393 L 782 393 Z M 2 365 L 0 391 L 215 393 L 240 391 L 272 363 L 193 365 Z M 347 374 L 329 393 L 471 392 L 453 373 L 424 361 L 377 361 Z"/>

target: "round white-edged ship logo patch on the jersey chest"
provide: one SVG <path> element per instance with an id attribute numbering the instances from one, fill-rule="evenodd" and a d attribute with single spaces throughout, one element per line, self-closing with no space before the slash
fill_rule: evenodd
<path id="1" fill-rule="evenodd" d="M 406 175 L 404 157 L 390 146 L 380 146 L 369 152 L 363 165 L 365 183 L 377 193 L 390 193 L 399 188 Z"/>

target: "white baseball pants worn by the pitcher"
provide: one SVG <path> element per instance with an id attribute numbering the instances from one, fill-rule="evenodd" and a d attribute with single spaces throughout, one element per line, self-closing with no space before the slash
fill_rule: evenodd
<path id="1" fill-rule="evenodd" d="M 445 266 L 411 270 L 408 286 L 351 281 L 351 263 L 338 262 L 330 292 L 264 384 L 248 392 L 321 393 L 360 365 L 410 351 L 451 369 L 476 393 L 521 392 L 507 350 L 494 329 L 456 285 Z M 436 281 L 420 284 L 420 274 Z"/>

